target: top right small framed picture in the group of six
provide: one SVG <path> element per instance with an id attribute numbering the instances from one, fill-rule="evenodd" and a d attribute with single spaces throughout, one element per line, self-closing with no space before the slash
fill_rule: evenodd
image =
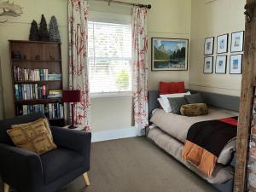
<path id="1" fill-rule="evenodd" d="M 232 32 L 231 34 L 231 53 L 243 51 L 244 31 Z"/>

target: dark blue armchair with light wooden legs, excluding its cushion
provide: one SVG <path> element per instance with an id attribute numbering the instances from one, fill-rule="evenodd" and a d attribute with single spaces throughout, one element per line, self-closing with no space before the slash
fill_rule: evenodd
<path id="1" fill-rule="evenodd" d="M 44 114 L 32 113 L 0 121 L 0 174 L 4 192 L 9 192 L 9 186 L 17 192 L 55 192 L 81 175 L 89 185 L 89 132 L 51 127 L 57 148 L 42 155 L 15 147 L 6 132 L 10 125 L 39 118 L 45 118 Z"/>

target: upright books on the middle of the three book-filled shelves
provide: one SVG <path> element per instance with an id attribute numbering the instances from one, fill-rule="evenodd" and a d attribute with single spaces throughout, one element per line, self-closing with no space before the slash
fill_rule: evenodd
<path id="1" fill-rule="evenodd" d="M 15 84 L 15 100 L 30 100 L 46 98 L 46 85 Z"/>

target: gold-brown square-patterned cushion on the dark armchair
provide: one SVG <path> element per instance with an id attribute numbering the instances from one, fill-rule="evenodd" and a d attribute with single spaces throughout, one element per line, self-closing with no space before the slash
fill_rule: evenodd
<path id="1" fill-rule="evenodd" d="M 38 119 L 31 123 L 12 125 L 7 131 L 9 137 L 18 148 L 44 154 L 57 148 L 47 119 Z"/>

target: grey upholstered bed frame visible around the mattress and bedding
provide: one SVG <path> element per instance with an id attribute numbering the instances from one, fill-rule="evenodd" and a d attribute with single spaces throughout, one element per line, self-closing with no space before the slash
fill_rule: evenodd
<path id="1" fill-rule="evenodd" d="M 191 94 L 193 93 L 201 93 L 204 101 L 207 105 L 216 107 L 216 108 L 224 108 L 228 110 L 232 110 L 235 112 L 239 112 L 239 103 L 240 97 L 239 96 L 228 96 L 224 94 L 218 93 L 211 93 L 211 92 L 204 92 L 199 90 L 186 90 L 190 91 Z M 155 108 L 159 108 L 159 102 L 157 98 L 159 97 L 158 90 L 149 90 L 148 91 L 148 116 L 149 119 L 151 118 L 151 113 Z M 146 129 L 146 136 L 148 135 L 148 129 Z M 148 138 L 149 139 L 149 138 Z M 150 139 L 151 140 L 151 139 Z M 230 160 L 230 166 L 236 165 L 236 153 L 233 154 L 232 160 Z M 212 184 L 216 189 L 222 192 L 232 192 L 233 191 L 233 183 L 234 179 L 230 179 L 226 183 L 221 184 Z"/>

